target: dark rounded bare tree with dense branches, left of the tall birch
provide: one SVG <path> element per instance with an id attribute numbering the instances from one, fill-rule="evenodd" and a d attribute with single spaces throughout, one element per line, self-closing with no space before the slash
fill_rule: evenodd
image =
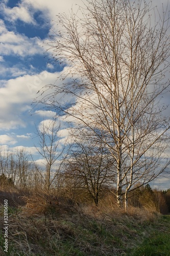
<path id="1" fill-rule="evenodd" d="M 66 159 L 66 175 L 75 180 L 79 188 L 85 188 L 95 205 L 98 205 L 104 186 L 113 186 L 115 182 L 115 167 L 110 158 L 108 148 L 101 141 L 95 141 L 87 130 L 75 136 L 70 145 Z M 68 171 L 67 171 L 68 170 Z"/>

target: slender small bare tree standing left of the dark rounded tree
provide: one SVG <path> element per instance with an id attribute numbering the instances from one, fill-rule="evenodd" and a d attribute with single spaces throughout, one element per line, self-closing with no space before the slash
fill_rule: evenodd
<path id="1" fill-rule="evenodd" d="M 36 146 L 36 149 L 46 161 L 45 176 L 42 177 L 48 191 L 59 174 L 65 142 L 61 143 L 60 122 L 58 123 L 57 116 L 46 123 L 43 121 L 36 130 L 39 137 L 39 147 Z"/>

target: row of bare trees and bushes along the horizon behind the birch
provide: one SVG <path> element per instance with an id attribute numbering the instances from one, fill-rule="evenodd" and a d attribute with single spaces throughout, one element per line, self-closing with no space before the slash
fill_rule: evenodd
<path id="1" fill-rule="evenodd" d="M 94 144 L 78 144 L 76 140 L 73 144 L 72 148 L 70 145 L 67 148 L 67 157 L 60 160 L 56 158 L 51 169 L 48 162 L 45 168 L 36 164 L 24 148 L 14 153 L 10 148 L 5 152 L 1 146 L 0 189 L 14 187 L 40 193 L 42 191 L 46 195 L 55 194 L 56 198 L 65 197 L 69 202 L 94 203 L 96 206 L 107 202 L 115 207 L 116 184 L 113 182 L 113 163 L 107 151 L 102 145 L 96 148 Z M 63 149 L 60 148 L 61 152 Z M 129 205 L 167 214 L 170 212 L 170 188 L 157 190 L 149 184 L 136 184 L 129 193 Z"/>

